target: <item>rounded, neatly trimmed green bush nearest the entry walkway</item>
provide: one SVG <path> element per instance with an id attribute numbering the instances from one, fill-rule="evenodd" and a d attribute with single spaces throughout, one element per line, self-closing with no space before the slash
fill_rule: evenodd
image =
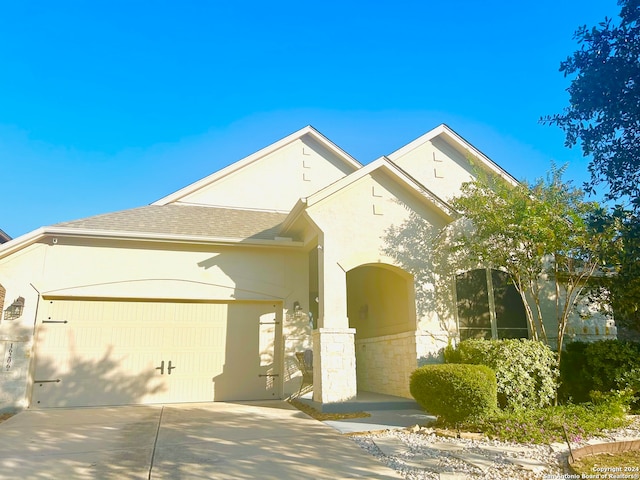
<path id="1" fill-rule="evenodd" d="M 427 412 L 448 424 L 492 413 L 496 376 L 484 365 L 425 365 L 411 374 L 409 390 Z"/>

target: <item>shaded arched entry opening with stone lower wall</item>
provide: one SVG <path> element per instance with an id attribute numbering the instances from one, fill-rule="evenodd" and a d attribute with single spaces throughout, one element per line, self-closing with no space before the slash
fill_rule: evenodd
<path id="1" fill-rule="evenodd" d="M 347 315 L 356 330 L 359 391 L 406 396 L 416 368 L 413 277 L 386 264 L 347 272 Z"/>

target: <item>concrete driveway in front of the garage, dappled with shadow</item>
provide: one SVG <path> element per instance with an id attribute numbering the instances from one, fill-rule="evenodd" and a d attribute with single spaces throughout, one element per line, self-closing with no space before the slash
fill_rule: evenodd
<path id="1" fill-rule="evenodd" d="M 0 424 L 0 479 L 398 479 L 282 401 L 28 410 Z"/>

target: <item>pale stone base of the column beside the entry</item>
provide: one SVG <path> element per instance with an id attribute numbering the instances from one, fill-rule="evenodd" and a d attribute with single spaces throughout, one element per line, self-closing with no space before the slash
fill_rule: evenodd
<path id="1" fill-rule="evenodd" d="M 356 397 L 355 328 L 313 331 L 313 400 L 339 403 Z"/>

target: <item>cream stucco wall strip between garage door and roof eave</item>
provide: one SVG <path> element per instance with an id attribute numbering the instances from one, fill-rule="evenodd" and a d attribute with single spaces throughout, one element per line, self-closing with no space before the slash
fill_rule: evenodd
<path id="1" fill-rule="evenodd" d="M 44 295 L 286 299 L 304 298 L 306 285 L 306 257 L 287 249 L 58 238 L 42 267 L 34 285 Z"/>

